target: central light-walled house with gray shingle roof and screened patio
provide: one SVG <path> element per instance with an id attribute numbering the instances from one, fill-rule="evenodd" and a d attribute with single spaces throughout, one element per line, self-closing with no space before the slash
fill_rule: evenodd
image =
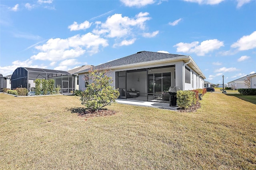
<path id="1" fill-rule="evenodd" d="M 120 98 L 150 101 L 161 98 L 170 87 L 182 90 L 204 88 L 206 78 L 190 55 L 140 51 L 94 69 L 110 70 L 113 86 L 120 91 Z M 85 90 L 84 77 L 89 69 L 78 71 L 79 89 Z"/>

